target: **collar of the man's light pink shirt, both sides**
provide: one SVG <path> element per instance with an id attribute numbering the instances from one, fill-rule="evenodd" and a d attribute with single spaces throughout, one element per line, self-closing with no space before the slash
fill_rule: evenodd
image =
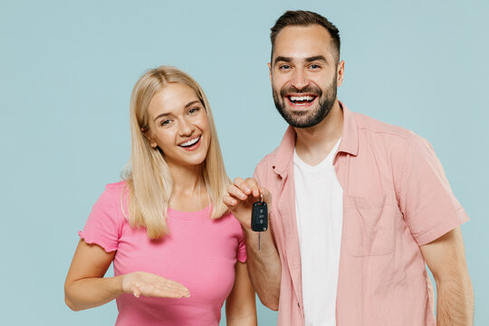
<path id="1" fill-rule="evenodd" d="M 359 152 L 359 130 L 357 122 L 346 105 L 340 102 L 340 107 L 343 110 L 343 132 L 341 134 L 340 146 L 335 154 L 333 163 L 336 161 L 338 153 L 344 152 L 357 156 Z M 293 158 L 293 149 L 295 147 L 295 130 L 289 126 L 283 135 L 282 142 L 277 149 L 277 155 L 273 162 L 273 170 L 281 177 L 285 177 L 289 170 Z"/>

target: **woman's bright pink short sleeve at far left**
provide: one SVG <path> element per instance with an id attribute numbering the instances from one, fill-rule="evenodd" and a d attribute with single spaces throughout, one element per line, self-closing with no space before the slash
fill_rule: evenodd
<path id="1" fill-rule="evenodd" d="M 87 244 L 100 245 L 106 252 L 116 251 L 120 238 L 120 200 L 117 187 L 108 185 L 91 208 L 90 216 L 78 233 Z"/>

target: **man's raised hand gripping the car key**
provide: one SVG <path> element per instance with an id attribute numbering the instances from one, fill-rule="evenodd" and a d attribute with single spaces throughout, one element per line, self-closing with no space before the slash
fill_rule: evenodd
<path id="1" fill-rule="evenodd" d="M 259 187 L 253 177 L 247 177 L 245 180 L 236 177 L 235 183 L 227 187 L 227 193 L 228 195 L 223 198 L 225 205 L 247 231 L 251 230 L 253 203 L 260 198 L 260 194 L 264 195 L 264 202 L 268 206 L 272 204 L 270 192 L 264 187 Z"/>

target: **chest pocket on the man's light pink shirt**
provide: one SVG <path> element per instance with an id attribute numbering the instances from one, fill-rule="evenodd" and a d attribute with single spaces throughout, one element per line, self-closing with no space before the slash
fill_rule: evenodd
<path id="1" fill-rule="evenodd" d="M 344 195 L 344 226 L 352 256 L 390 254 L 395 246 L 395 212 L 390 197 Z"/>

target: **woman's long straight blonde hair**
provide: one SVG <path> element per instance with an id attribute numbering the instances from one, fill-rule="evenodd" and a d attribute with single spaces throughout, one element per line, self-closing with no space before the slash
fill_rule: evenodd
<path id="1" fill-rule="evenodd" d="M 225 173 L 216 125 L 206 94 L 192 77 L 177 68 L 161 66 L 151 69 L 139 78 L 132 90 L 131 153 L 122 175 L 129 190 L 129 216 L 127 216 L 129 224 L 133 227 L 146 227 L 150 239 L 168 235 L 167 211 L 173 188 L 173 177 L 162 153 L 150 146 L 143 130 L 149 129 L 149 102 L 158 91 L 173 82 L 192 88 L 206 109 L 211 139 L 202 167 L 202 177 L 210 201 L 213 203 L 211 218 L 219 218 L 227 211 L 222 197 L 227 193 L 231 181 Z"/>

